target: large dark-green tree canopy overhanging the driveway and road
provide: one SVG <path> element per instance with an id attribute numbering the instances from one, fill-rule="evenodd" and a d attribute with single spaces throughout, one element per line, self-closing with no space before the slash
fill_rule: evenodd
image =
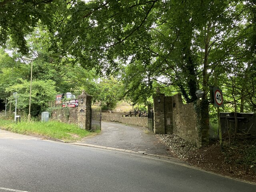
<path id="1" fill-rule="evenodd" d="M 196 89 L 207 92 L 213 84 L 213 71 L 232 72 L 232 62 L 247 56 L 244 62 L 252 63 L 255 54 L 255 0 L 2 0 L 0 8 L 15 13 L 10 22 L 1 14 L 2 43 L 9 36 L 25 52 L 24 35 L 45 26 L 51 50 L 84 68 L 109 74 L 125 66 L 126 87 L 136 94 L 152 93 L 158 81 L 192 102 Z M 22 41 L 13 30 L 20 18 L 16 29 Z M 244 44 L 251 51 L 245 52 Z M 251 93 L 243 98 L 253 101 Z"/>

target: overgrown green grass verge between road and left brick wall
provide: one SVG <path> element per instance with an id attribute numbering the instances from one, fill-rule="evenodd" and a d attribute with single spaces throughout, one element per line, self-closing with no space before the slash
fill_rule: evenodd
<path id="1" fill-rule="evenodd" d="M 0 128 L 19 133 L 19 134 L 35 134 L 50 138 L 57 138 L 64 141 L 81 140 L 82 138 L 96 134 L 79 128 L 74 124 L 65 124 L 61 122 L 21 122 L 14 123 L 10 120 L 0 119 Z"/>

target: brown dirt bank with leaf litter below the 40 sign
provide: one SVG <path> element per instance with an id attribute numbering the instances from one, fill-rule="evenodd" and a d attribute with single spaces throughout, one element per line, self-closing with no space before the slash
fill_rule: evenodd
<path id="1" fill-rule="evenodd" d="M 256 183 L 256 137 L 240 136 L 236 143 L 226 138 L 220 144 L 212 140 L 209 146 L 190 150 L 186 162 L 204 170 L 222 174 L 239 180 Z"/>

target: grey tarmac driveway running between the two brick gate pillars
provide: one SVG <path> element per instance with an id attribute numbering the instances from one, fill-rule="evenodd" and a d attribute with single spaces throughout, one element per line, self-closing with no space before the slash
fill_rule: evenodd
<path id="1" fill-rule="evenodd" d="M 157 135 L 147 128 L 120 123 L 102 122 L 102 132 L 84 138 L 81 143 L 173 157 L 169 147 L 162 144 Z"/>

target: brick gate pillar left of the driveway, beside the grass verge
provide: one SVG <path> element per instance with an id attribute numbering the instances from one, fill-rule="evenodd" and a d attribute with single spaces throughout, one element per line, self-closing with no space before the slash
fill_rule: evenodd
<path id="1" fill-rule="evenodd" d="M 85 130 L 91 130 L 92 96 L 84 91 L 78 96 L 78 126 Z"/>

